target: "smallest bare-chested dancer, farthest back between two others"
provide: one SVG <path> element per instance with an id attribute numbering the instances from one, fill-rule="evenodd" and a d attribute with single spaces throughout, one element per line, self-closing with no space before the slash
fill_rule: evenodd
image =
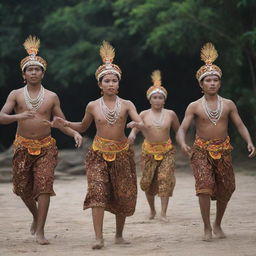
<path id="1" fill-rule="evenodd" d="M 159 70 L 152 73 L 152 80 L 154 85 L 147 91 L 151 108 L 140 113 L 144 122 L 142 133 L 145 137 L 142 144 L 140 186 L 145 191 L 149 203 L 149 219 L 155 218 L 155 195 L 158 194 L 162 206 L 160 219 L 168 221 L 166 211 L 175 186 L 175 152 L 170 139 L 170 129 L 177 132 L 180 123 L 174 111 L 164 108 L 167 91 L 161 86 Z M 131 143 L 138 132 L 137 128 L 132 129 L 128 137 Z"/>

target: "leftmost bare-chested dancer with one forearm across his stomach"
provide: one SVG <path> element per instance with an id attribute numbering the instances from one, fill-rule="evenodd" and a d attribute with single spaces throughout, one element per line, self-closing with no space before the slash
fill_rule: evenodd
<path id="1" fill-rule="evenodd" d="M 58 96 L 46 90 L 41 81 L 46 61 L 36 56 L 40 41 L 29 37 L 24 46 L 29 56 L 21 61 L 25 87 L 13 90 L 0 112 L 0 122 L 18 122 L 14 141 L 13 191 L 24 201 L 33 215 L 31 234 L 39 244 L 48 244 L 44 226 L 53 191 L 54 168 L 57 164 L 57 147 L 51 137 L 51 127 L 45 122 L 52 116 L 65 118 Z M 15 114 L 11 114 L 15 111 Z M 76 146 L 82 143 L 81 135 L 70 129 L 62 129 L 74 137 Z"/>

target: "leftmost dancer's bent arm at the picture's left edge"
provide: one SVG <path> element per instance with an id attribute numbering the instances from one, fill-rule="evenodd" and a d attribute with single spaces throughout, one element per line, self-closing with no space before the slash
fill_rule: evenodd
<path id="1" fill-rule="evenodd" d="M 35 112 L 32 110 L 11 115 L 11 113 L 15 108 L 15 105 L 16 105 L 16 90 L 12 91 L 9 94 L 3 108 L 1 109 L 1 112 L 0 112 L 1 124 L 11 124 L 19 120 L 34 118 Z"/>

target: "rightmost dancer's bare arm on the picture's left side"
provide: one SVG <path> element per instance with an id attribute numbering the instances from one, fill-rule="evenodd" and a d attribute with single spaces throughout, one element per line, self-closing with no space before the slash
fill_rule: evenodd
<path id="1" fill-rule="evenodd" d="M 194 104 L 191 103 L 187 109 L 186 109 L 186 112 L 185 112 L 185 117 L 180 125 L 180 128 L 178 129 L 178 132 L 176 134 L 176 141 L 179 143 L 182 151 L 190 156 L 191 154 L 191 148 L 186 144 L 186 133 L 187 133 L 187 130 L 192 122 L 192 120 L 194 119 Z"/>

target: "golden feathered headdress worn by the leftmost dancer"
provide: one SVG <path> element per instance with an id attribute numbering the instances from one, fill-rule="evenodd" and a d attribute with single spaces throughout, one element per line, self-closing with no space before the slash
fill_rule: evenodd
<path id="1" fill-rule="evenodd" d="M 40 66 L 46 70 L 47 62 L 40 56 L 37 56 L 40 47 L 40 39 L 36 36 L 29 36 L 24 42 L 24 48 L 26 49 L 29 56 L 25 57 L 20 62 L 21 70 L 31 65 Z"/>

